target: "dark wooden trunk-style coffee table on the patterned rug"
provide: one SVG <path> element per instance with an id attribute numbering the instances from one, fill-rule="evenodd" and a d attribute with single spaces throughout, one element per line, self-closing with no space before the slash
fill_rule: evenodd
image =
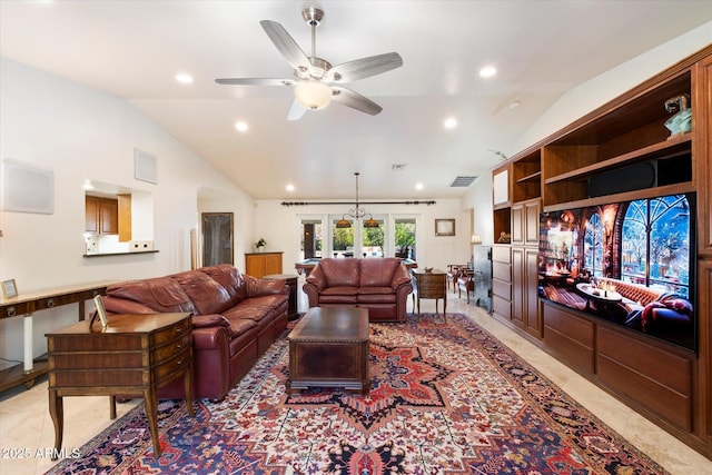
<path id="1" fill-rule="evenodd" d="M 307 387 L 343 387 L 367 394 L 368 310 L 313 307 L 289 336 L 287 393 Z"/>

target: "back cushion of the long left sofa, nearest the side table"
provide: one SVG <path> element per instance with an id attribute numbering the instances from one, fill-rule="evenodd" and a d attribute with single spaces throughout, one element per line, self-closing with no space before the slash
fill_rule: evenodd
<path id="1" fill-rule="evenodd" d="M 196 311 L 188 295 L 170 277 L 115 284 L 107 288 L 107 296 L 138 301 L 157 313 Z"/>

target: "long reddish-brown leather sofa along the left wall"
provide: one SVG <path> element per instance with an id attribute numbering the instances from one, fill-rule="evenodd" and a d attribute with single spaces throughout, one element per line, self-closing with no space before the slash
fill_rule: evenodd
<path id="1" fill-rule="evenodd" d="M 219 400 L 287 327 L 289 287 L 222 264 L 107 288 L 109 314 L 192 314 L 194 396 Z M 177 380 L 160 398 L 185 397 Z"/>

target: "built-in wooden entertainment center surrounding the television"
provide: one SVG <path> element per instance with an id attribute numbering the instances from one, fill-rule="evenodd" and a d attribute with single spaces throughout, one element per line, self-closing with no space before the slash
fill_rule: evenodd
<path id="1" fill-rule="evenodd" d="M 671 137 L 664 123 L 672 113 L 664 103 L 680 95 L 690 97 L 692 130 Z M 497 166 L 493 314 L 712 458 L 710 154 L 712 47 Z M 631 189 L 624 177 L 644 162 L 654 164 L 656 181 Z M 538 297 L 540 212 L 689 192 L 696 194 L 695 350 Z M 501 239 L 503 234 L 511 240 Z"/>

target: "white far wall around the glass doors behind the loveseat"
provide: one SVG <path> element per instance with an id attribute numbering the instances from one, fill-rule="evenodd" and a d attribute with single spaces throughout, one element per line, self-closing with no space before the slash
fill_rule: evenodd
<path id="1" fill-rule="evenodd" d="M 431 206 L 362 204 L 362 207 L 374 216 L 382 214 L 397 217 L 416 215 L 418 219 L 416 228 L 418 266 L 445 270 L 448 264 L 466 263 L 472 255 L 469 250 L 469 214 L 463 210 L 458 199 L 435 199 L 435 201 L 436 204 Z M 281 200 L 257 200 L 255 206 L 253 243 L 264 237 L 267 241 L 266 250 L 284 251 L 283 271 L 286 274 L 295 273 L 294 263 L 298 260 L 298 216 L 343 215 L 349 209 L 347 205 L 287 207 L 281 205 Z M 350 208 L 353 207 L 352 205 Z M 455 219 L 455 236 L 435 237 L 435 219 Z M 238 263 L 240 268 L 244 268 L 244 261 Z"/>

